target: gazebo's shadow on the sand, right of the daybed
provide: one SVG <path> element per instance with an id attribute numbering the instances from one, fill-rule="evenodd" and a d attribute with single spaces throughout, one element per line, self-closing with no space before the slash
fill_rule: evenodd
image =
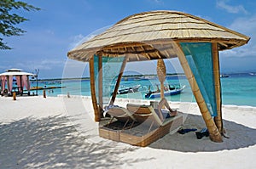
<path id="1" fill-rule="evenodd" d="M 183 124 L 184 128 L 205 127 L 201 115 L 188 115 Z M 247 148 L 256 144 L 256 129 L 224 120 L 224 128 L 230 138 L 224 138 L 223 143 L 213 143 L 208 137 L 197 139 L 195 132 L 185 134 L 167 134 L 158 141 L 150 144 L 154 149 L 170 149 L 180 152 L 212 152 L 224 149 Z"/>

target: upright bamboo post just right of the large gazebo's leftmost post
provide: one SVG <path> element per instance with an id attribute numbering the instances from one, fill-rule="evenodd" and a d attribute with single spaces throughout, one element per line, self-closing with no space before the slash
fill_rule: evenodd
<path id="1" fill-rule="evenodd" d="M 99 114 L 103 117 L 103 70 L 102 70 L 102 55 L 98 55 L 98 92 L 99 92 Z"/>

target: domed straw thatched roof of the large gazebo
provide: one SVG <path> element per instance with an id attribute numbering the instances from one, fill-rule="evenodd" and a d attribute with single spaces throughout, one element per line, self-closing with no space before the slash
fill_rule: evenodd
<path id="1" fill-rule="evenodd" d="M 218 42 L 218 49 L 224 50 L 244 45 L 249 39 L 191 14 L 152 11 L 120 20 L 67 55 L 80 61 L 88 61 L 93 54 L 131 54 L 128 61 L 165 59 L 177 56 L 176 42 Z"/>

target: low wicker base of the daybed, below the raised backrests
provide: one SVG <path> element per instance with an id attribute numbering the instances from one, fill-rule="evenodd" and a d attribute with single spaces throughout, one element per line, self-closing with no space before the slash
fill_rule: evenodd
<path id="1" fill-rule="evenodd" d="M 105 125 L 100 123 L 99 135 L 113 141 L 145 147 L 180 127 L 183 124 L 183 115 L 166 118 L 162 124 L 149 126 L 147 122 L 129 122 L 125 125 L 123 121 L 113 121 Z"/>

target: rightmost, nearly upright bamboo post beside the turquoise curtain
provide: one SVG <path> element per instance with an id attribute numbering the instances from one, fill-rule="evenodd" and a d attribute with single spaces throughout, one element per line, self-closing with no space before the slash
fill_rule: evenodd
<path id="1" fill-rule="evenodd" d="M 222 109 L 221 109 L 221 83 L 219 73 L 219 56 L 218 45 L 216 42 L 212 43 L 212 62 L 213 62 L 213 74 L 215 82 L 216 104 L 217 104 L 217 116 L 214 117 L 218 131 L 223 134 L 223 121 L 222 121 Z"/>

